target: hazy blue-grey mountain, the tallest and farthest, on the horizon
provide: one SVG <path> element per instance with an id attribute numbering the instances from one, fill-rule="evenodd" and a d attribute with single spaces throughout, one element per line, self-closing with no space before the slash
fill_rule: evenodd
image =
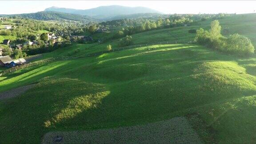
<path id="1" fill-rule="evenodd" d="M 162 13 L 162 12 L 153 10 L 151 8 L 125 7 L 120 5 L 101 6 L 101 7 L 85 9 L 85 10 L 51 7 L 51 8 L 46 8 L 44 11 L 80 14 L 80 15 L 92 16 L 96 19 L 110 19 L 118 15 L 130 15 L 130 14 L 136 14 L 136 13 Z"/>

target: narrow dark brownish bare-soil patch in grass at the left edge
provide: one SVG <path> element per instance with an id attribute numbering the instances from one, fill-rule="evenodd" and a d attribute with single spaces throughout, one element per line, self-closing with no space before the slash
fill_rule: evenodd
<path id="1" fill-rule="evenodd" d="M 29 84 L 20 88 L 14 88 L 6 92 L 0 92 L 0 100 L 16 97 L 26 92 L 28 89 L 33 88 L 36 84 Z"/>

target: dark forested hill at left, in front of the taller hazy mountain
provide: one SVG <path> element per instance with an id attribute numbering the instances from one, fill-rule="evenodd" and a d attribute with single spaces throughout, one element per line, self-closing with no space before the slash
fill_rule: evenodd
<path id="1" fill-rule="evenodd" d="M 24 14 L 14 14 L 14 15 L 0 15 L 0 16 L 18 16 L 22 18 L 29 18 L 35 20 L 75 20 L 75 21 L 96 21 L 89 16 L 83 16 L 78 14 L 70 14 L 64 12 L 36 12 L 36 13 L 24 13 Z"/>

